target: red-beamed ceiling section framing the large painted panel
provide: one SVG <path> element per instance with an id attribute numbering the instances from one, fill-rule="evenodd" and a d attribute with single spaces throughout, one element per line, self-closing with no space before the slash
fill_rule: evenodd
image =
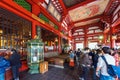
<path id="1" fill-rule="evenodd" d="M 104 15 L 111 15 L 119 0 L 51 0 L 70 29 L 98 23 Z M 72 26 L 71 26 L 72 24 Z"/>

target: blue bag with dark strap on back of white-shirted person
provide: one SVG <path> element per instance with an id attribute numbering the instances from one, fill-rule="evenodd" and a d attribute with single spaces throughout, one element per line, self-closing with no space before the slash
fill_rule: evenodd
<path id="1" fill-rule="evenodd" d="M 109 74 L 110 76 L 116 78 L 116 77 L 118 76 L 118 74 L 117 74 L 117 70 L 118 70 L 117 66 L 108 64 L 107 61 L 106 61 L 106 59 L 105 59 L 105 57 L 104 57 L 104 56 L 101 56 L 101 57 L 102 57 L 102 59 L 103 59 L 103 60 L 105 61 L 105 63 L 106 63 L 108 74 Z"/>

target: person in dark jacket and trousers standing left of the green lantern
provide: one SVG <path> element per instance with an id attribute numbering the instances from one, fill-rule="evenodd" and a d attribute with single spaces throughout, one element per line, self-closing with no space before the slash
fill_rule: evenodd
<path id="1" fill-rule="evenodd" d="M 14 80 L 19 80 L 19 68 L 21 66 L 20 54 L 15 49 L 11 49 L 9 60 L 12 67 L 13 78 Z"/>

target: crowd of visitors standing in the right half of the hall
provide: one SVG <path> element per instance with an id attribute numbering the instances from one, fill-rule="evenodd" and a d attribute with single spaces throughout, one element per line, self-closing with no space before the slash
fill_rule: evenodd
<path id="1" fill-rule="evenodd" d="M 108 74 L 107 65 L 102 56 L 105 57 L 108 64 L 120 66 L 120 50 L 102 47 L 99 49 L 84 50 L 78 48 L 77 51 L 70 50 L 69 66 L 73 69 L 75 66 L 82 68 L 82 74 L 79 75 L 79 80 L 89 80 L 89 72 L 92 68 L 92 80 L 120 80 L 118 77 L 112 77 Z"/>

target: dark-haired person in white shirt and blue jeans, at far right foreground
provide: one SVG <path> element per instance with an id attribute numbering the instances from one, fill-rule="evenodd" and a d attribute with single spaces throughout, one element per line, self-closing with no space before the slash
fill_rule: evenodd
<path id="1" fill-rule="evenodd" d="M 110 48 L 109 47 L 103 47 L 103 56 L 105 57 L 108 64 L 115 65 L 115 59 L 113 56 L 111 56 Z M 100 75 L 99 75 L 100 72 Z M 100 80 L 115 80 L 114 77 L 110 76 L 107 72 L 107 65 L 102 57 L 98 58 L 97 63 L 97 69 L 96 69 L 96 75 L 99 76 Z"/>

